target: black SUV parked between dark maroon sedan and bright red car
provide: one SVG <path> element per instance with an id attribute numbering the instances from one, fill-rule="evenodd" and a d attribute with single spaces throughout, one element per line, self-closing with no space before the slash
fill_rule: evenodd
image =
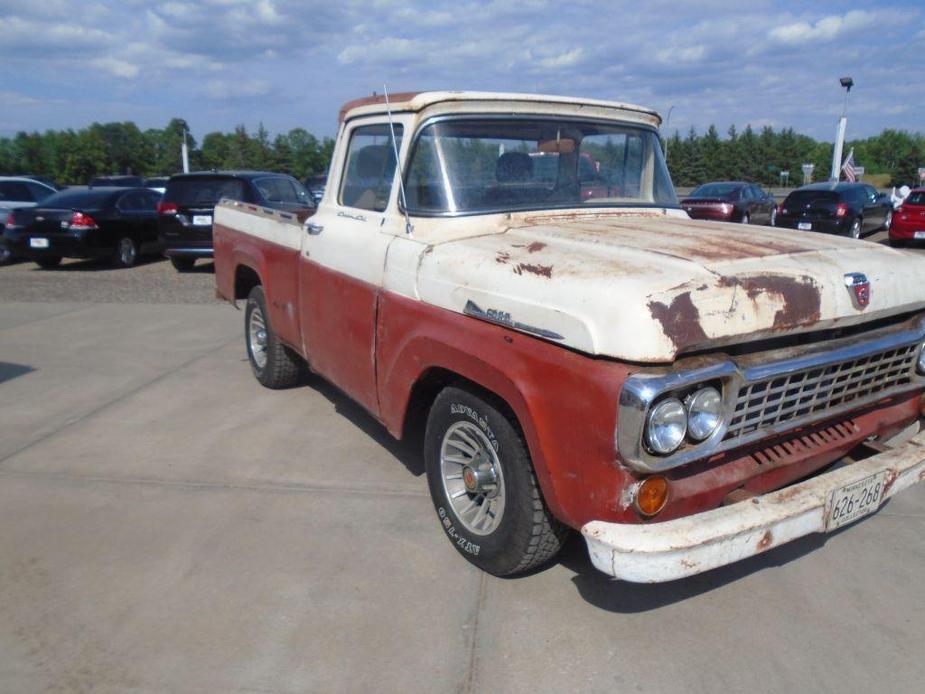
<path id="1" fill-rule="evenodd" d="M 776 226 L 858 239 L 889 227 L 892 216 L 889 196 L 866 183 L 812 183 L 797 188 L 781 203 Z"/>

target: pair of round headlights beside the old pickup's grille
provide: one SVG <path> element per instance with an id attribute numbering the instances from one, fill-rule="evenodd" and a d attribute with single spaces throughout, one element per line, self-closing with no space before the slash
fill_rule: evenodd
<path id="1" fill-rule="evenodd" d="M 687 438 L 705 441 L 723 423 L 723 396 L 713 386 L 690 393 L 683 400 L 669 395 L 646 417 L 645 441 L 653 453 L 674 453 Z"/>

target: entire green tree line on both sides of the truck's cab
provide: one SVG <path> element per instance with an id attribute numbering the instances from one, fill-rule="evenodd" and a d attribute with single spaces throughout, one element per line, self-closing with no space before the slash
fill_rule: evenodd
<path id="1" fill-rule="evenodd" d="M 135 174 L 163 176 L 182 170 L 180 143 L 186 122 L 174 118 L 163 129 L 141 130 L 132 122 L 93 123 L 80 130 L 19 132 L 0 138 L 0 174 L 28 173 L 59 183 L 83 184 L 94 176 Z M 802 183 L 801 165 L 815 165 L 814 180 L 826 180 L 832 144 L 795 132 L 792 128 L 763 127 L 742 132 L 730 127 L 720 137 L 715 126 L 700 135 L 693 128 L 686 137 L 675 131 L 664 145 L 675 185 L 705 181 L 748 180 L 765 185 L 780 183 L 789 171 L 789 184 Z M 239 125 L 233 132 L 210 132 L 201 143 L 187 135 L 191 170 L 258 169 L 289 173 L 299 179 L 327 170 L 334 141 L 316 138 L 303 128 L 270 138 L 259 126 L 248 132 Z M 855 164 L 866 174 L 880 174 L 886 185 L 913 184 L 917 169 L 925 166 L 925 135 L 884 130 L 866 140 L 850 141 Z"/>

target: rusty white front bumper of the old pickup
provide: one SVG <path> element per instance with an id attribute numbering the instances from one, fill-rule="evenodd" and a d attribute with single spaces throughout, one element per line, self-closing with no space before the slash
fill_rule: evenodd
<path id="1" fill-rule="evenodd" d="M 925 433 L 800 484 L 664 523 L 591 521 L 581 529 L 595 567 L 634 583 L 661 583 L 760 554 L 825 530 L 831 493 L 886 470 L 883 501 L 925 480 Z"/>

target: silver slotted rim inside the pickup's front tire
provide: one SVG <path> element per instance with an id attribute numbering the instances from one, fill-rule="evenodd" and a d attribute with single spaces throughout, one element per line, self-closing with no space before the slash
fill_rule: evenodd
<path id="1" fill-rule="evenodd" d="M 460 523 L 474 535 L 488 535 L 504 514 L 504 476 L 498 454 L 472 422 L 456 422 L 440 446 L 443 490 Z"/>

